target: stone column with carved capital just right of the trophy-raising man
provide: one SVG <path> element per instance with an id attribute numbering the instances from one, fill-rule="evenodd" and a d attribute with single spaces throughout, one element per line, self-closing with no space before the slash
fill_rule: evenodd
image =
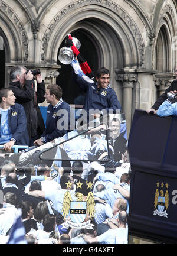
<path id="1" fill-rule="evenodd" d="M 132 120 L 132 89 L 134 82 L 137 82 L 137 74 L 117 74 L 116 80 L 123 83 L 122 112 L 126 116 L 127 134 L 129 134 Z"/>

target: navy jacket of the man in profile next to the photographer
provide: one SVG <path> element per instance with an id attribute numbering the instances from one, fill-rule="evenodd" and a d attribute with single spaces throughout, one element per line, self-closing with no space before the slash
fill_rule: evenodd
<path id="1" fill-rule="evenodd" d="M 70 131 L 70 105 L 65 101 L 61 100 L 61 104 L 56 108 L 53 108 L 53 105 L 49 104 L 47 108 L 47 119 L 46 119 L 46 128 L 42 137 L 44 137 L 45 142 L 54 140 L 55 138 L 63 137 L 64 134 Z M 66 111 L 67 116 L 60 116 L 60 111 Z M 64 122 L 61 125 L 67 125 L 67 129 L 58 129 L 57 122 L 59 124 L 59 119 L 64 119 Z"/>

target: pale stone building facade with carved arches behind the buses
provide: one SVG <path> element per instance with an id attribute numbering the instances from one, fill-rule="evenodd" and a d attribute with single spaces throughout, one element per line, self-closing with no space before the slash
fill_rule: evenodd
<path id="1" fill-rule="evenodd" d="M 17 64 L 39 67 L 46 85 L 67 80 L 58 51 L 68 33 L 81 38 L 80 51 L 90 49 L 83 50 L 88 63 L 110 69 L 129 132 L 135 109 L 150 108 L 175 78 L 177 1 L 0 0 L 4 85 Z"/>

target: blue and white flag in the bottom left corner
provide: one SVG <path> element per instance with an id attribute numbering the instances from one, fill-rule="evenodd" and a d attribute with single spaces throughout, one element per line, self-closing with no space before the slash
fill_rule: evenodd
<path id="1" fill-rule="evenodd" d="M 25 228 L 21 221 L 21 215 L 22 210 L 19 208 L 7 244 L 28 244 L 25 240 Z"/>

